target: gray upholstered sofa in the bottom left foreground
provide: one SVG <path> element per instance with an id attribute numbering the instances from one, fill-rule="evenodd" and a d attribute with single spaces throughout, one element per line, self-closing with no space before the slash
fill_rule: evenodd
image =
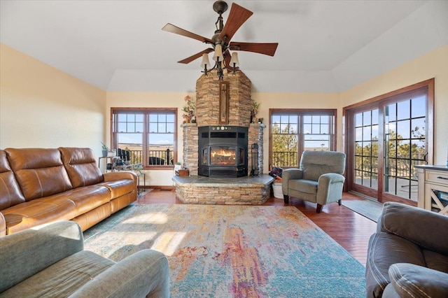
<path id="1" fill-rule="evenodd" d="M 0 237 L 0 297 L 169 297 L 162 253 L 141 250 L 116 263 L 83 245 L 68 220 Z"/>

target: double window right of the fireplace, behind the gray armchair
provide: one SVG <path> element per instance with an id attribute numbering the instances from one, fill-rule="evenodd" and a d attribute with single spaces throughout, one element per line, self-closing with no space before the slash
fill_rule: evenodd
<path id="1" fill-rule="evenodd" d="M 336 110 L 270 109 L 269 165 L 299 166 L 304 150 L 335 150 Z"/>

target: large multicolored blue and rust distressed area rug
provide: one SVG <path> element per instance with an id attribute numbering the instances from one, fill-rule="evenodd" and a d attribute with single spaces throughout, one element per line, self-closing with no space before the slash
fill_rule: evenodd
<path id="1" fill-rule="evenodd" d="M 363 265 L 292 206 L 134 204 L 84 236 L 115 261 L 165 253 L 172 297 L 365 297 Z"/>

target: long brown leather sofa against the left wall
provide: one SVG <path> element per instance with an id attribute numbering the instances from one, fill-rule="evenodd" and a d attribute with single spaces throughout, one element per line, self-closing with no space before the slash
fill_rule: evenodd
<path id="1" fill-rule="evenodd" d="M 0 150 L 0 236 L 55 220 L 85 231 L 136 199 L 137 176 L 102 174 L 90 148 Z"/>

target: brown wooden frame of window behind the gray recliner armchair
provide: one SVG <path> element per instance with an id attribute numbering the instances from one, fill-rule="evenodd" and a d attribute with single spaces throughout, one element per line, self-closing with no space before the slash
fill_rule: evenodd
<path id="1" fill-rule="evenodd" d="M 303 133 L 303 117 L 304 116 L 315 116 L 315 115 L 328 115 L 333 117 L 332 123 L 330 123 L 330 129 L 332 132 L 329 133 L 329 146 L 330 150 L 336 150 L 337 148 L 337 109 L 336 108 L 269 108 L 269 169 L 272 169 L 272 116 L 273 115 L 297 115 L 297 165 L 295 166 L 282 166 L 283 169 L 294 168 L 300 165 L 300 157 L 304 150 L 304 133 Z"/>

